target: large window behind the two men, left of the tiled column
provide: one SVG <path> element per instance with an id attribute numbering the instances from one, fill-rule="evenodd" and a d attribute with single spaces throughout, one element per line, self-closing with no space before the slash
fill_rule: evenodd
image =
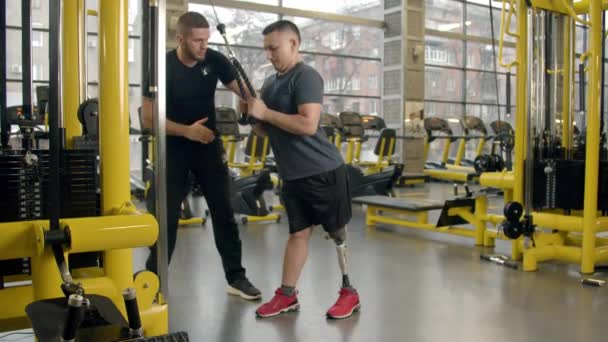
<path id="1" fill-rule="evenodd" d="M 330 4 L 331 2 L 325 2 Z M 303 2 L 283 1 L 285 7 L 306 8 Z M 379 1 L 331 3 L 335 13 L 373 18 L 381 13 Z M 202 13 L 212 27 L 217 23 L 211 6 L 190 4 L 189 9 Z M 279 19 L 279 15 L 216 6 L 217 15 L 227 25 L 226 33 L 233 50 L 256 89 L 275 73 L 263 50 L 262 30 Z M 380 42 L 382 31 L 370 27 L 330 22 L 321 19 L 283 16 L 295 22 L 302 36 L 300 52 L 304 63 L 314 67 L 324 81 L 325 112 L 337 114 L 357 110 L 378 114 L 380 106 Z M 226 53 L 224 41 L 215 29 L 211 34 L 212 48 Z M 235 107 L 237 97 L 220 90 L 216 105 Z"/>

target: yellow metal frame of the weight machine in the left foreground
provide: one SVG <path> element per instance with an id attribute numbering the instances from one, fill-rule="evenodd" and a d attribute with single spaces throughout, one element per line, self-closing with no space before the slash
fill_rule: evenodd
<path id="1" fill-rule="evenodd" d="M 81 1 L 81 0 L 79 0 Z M 72 21 L 78 11 L 65 4 L 64 67 L 67 80 L 63 94 L 68 113 L 64 122 L 70 125 L 68 134 L 76 134 L 76 125 L 69 121 L 75 117 L 79 88 L 73 73 L 75 57 Z M 80 7 L 81 9 L 83 7 Z M 149 246 L 158 236 L 158 225 L 150 215 L 138 214 L 129 202 L 129 106 L 127 64 L 127 0 L 100 0 L 99 2 L 99 53 L 100 60 L 100 159 L 101 197 L 103 217 L 62 219 L 61 226 L 69 227 L 72 241 L 69 253 L 103 251 L 104 267 L 94 272 L 75 272 L 74 280 L 80 282 L 88 294 L 110 298 L 126 317 L 122 290 L 135 287 L 138 294 L 142 323 L 146 336 L 168 332 L 168 307 L 158 294 L 158 278 L 150 272 L 133 277 L 132 248 Z M 72 62 L 70 62 L 72 61 Z M 70 109 L 71 108 L 71 109 Z M 29 326 L 25 306 L 35 300 L 63 297 L 61 278 L 50 246 L 44 244 L 44 231 L 48 221 L 9 222 L 0 224 L 0 259 L 31 258 L 31 285 L 15 286 L 0 290 L 0 331 L 11 331 Z M 22 280 L 24 279 L 21 277 Z M 25 278 L 27 279 L 27 278 Z"/>

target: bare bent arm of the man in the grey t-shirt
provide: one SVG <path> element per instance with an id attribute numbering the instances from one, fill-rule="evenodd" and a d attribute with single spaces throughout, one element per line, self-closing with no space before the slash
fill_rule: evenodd
<path id="1" fill-rule="evenodd" d="M 266 107 L 258 98 L 249 99 L 249 114 L 295 135 L 313 135 L 317 132 L 321 118 L 320 103 L 304 103 L 298 106 L 296 115 L 278 112 Z"/>

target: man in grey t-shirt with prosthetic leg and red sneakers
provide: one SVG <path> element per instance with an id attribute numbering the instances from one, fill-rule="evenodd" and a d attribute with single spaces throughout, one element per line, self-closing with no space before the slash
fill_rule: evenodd
<path id="1" fill-rule="evenodd" d="M 264 50 L 277 73 L 262 87 L 261 99 L 251 98 L 248 113 L 261 122 L 253 129 L 267 134 L 283 180 L 281 196 L 289 219 L 289 240 L 283 260 L 281 287 L 256 310 L 259 317 L 299 309 L 296 283 L 306 262 L 315 225 L 336 243 L 342 271 L 340 297 L 328 318 L 345 318 L 360 307 L 359 295 L 346 271 L 346 224 L 351 198 L 340 152 L 319 128 L 323 79 L 300 60 L 300 32 L 280 20 L 264 29 Z"/>

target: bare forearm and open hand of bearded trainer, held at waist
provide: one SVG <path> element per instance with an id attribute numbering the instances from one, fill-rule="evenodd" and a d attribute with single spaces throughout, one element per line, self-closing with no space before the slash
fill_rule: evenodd
<path id="1" fill-rule="evenodd" d="M 152 113 L 154 109 L 153 105 L 154 101 L 151 98 L 144 96 L 142 103 L 143 124 L 144 128 L 147 129 L 152 129 L 154 126 Z M 192 125 L 183 125 L 166 119 L 165 129 L 168 135 L 184 137 L 192 141 L 198 141 L 202 144 L 208 144 L 213 141 L 215 136 L 209 128 L 203 126 L 205 122 L 207 122 L 207 118 L 198 120 Z"/>

